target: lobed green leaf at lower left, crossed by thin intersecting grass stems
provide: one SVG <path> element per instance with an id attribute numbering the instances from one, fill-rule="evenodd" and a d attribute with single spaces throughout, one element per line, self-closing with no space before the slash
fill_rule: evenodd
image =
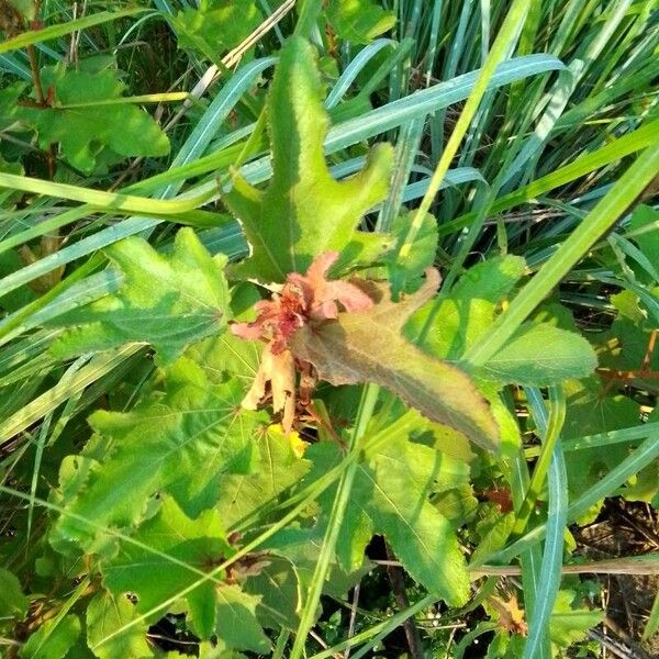
<path id="1" fill-rule="evenodd" d="M 105 587 L 115 595 L 137 596 L 137 613 L 149 611 L 199 580 L 199 572 L 180 562 L 210 572 L 233 554 L 215 511 L 205 511 L 191 520 L 169 496 L 133 538 L 145 547 L 121 541 L 119 552 L 103 561 L 101 571 Z M 179 562 L 148 551 L 147 547 Z M 202 638 L 209 638 L 215 630 L 215 588 L 212 581 L 204 581 L 186 594 L 192 628 Z"/>

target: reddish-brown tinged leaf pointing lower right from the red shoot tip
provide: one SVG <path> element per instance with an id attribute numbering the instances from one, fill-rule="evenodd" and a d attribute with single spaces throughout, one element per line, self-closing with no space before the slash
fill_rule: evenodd
<path id="1" fill-rule="evenodd" d="M 371 282 L 367 290 L 376 302 L 371 309 L 339 313 L 336 321 L 309 323 L 293 334 L 291 348 L 297 358 L 313 364 L 322 380 L 380 384 L 426 418 L 493 450 L 499 429 L 471 380 L 401 334 L 410 316 L 435 293 L 438 279 L 436 270 L 428 270 L 424 286 L 398 303 L 391 301 L 387 284 Z"/>

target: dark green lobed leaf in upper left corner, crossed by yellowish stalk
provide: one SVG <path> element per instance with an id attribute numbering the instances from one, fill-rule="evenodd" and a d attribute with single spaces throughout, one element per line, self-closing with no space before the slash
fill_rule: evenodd
<path id="1" fill-rule="evenodd" d="M 58 143 L 80 171 L 94 171 L 103 149 L 115 161 L 169 153 L 169 139 L 147 112 L 130 102 L 107 104 L 121 99 L 125 88 L 115 72 L 44 69 L 42 77 L 54 90 L 52 107 L 23 107 L 16 116 L 36 129 L 42 148 Z"/>

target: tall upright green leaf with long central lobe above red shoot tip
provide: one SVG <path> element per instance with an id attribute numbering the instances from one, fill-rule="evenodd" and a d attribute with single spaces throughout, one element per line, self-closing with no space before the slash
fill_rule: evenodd
<path id="1" fill-rule="evenodd" d="M 232 268 L 238 278 L 282 282 L 289 272 L 305 272 L 314 256 L 346 248 L 364 213 L 387 196 L 389 145 L 373 148 L 365 169 L 349 180 L 330 175 L 323 152 L 330 120 L 321 99 L 313 48 L 293 36 L 268 93 L 270 183 L 260 191 L 236 174 L 223 196 L 252 246 L 250 256 Z"/>

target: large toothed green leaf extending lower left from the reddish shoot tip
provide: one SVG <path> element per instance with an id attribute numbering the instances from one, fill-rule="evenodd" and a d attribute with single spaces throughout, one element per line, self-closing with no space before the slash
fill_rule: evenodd
<path id="1" fill-rule="evenodd" d="M 79 476 L 64 463 L 65 514 L 52 533 L 58 547 L 70 541 L 88 547 L 99 535 L 80 516 L 109 527 L 137 524 L 149 496 L 163 490 L 197 515 L 216 501 L 221 474 L 249 470 L 260 415 L 241 409 L 241 384 L 235 379 L 211 384 L 200 367 L 182 359 L 166 387 L 132 412 L 91 415 L 104 449 L 91 454 L 92 462 L 78 463 Z"/>

